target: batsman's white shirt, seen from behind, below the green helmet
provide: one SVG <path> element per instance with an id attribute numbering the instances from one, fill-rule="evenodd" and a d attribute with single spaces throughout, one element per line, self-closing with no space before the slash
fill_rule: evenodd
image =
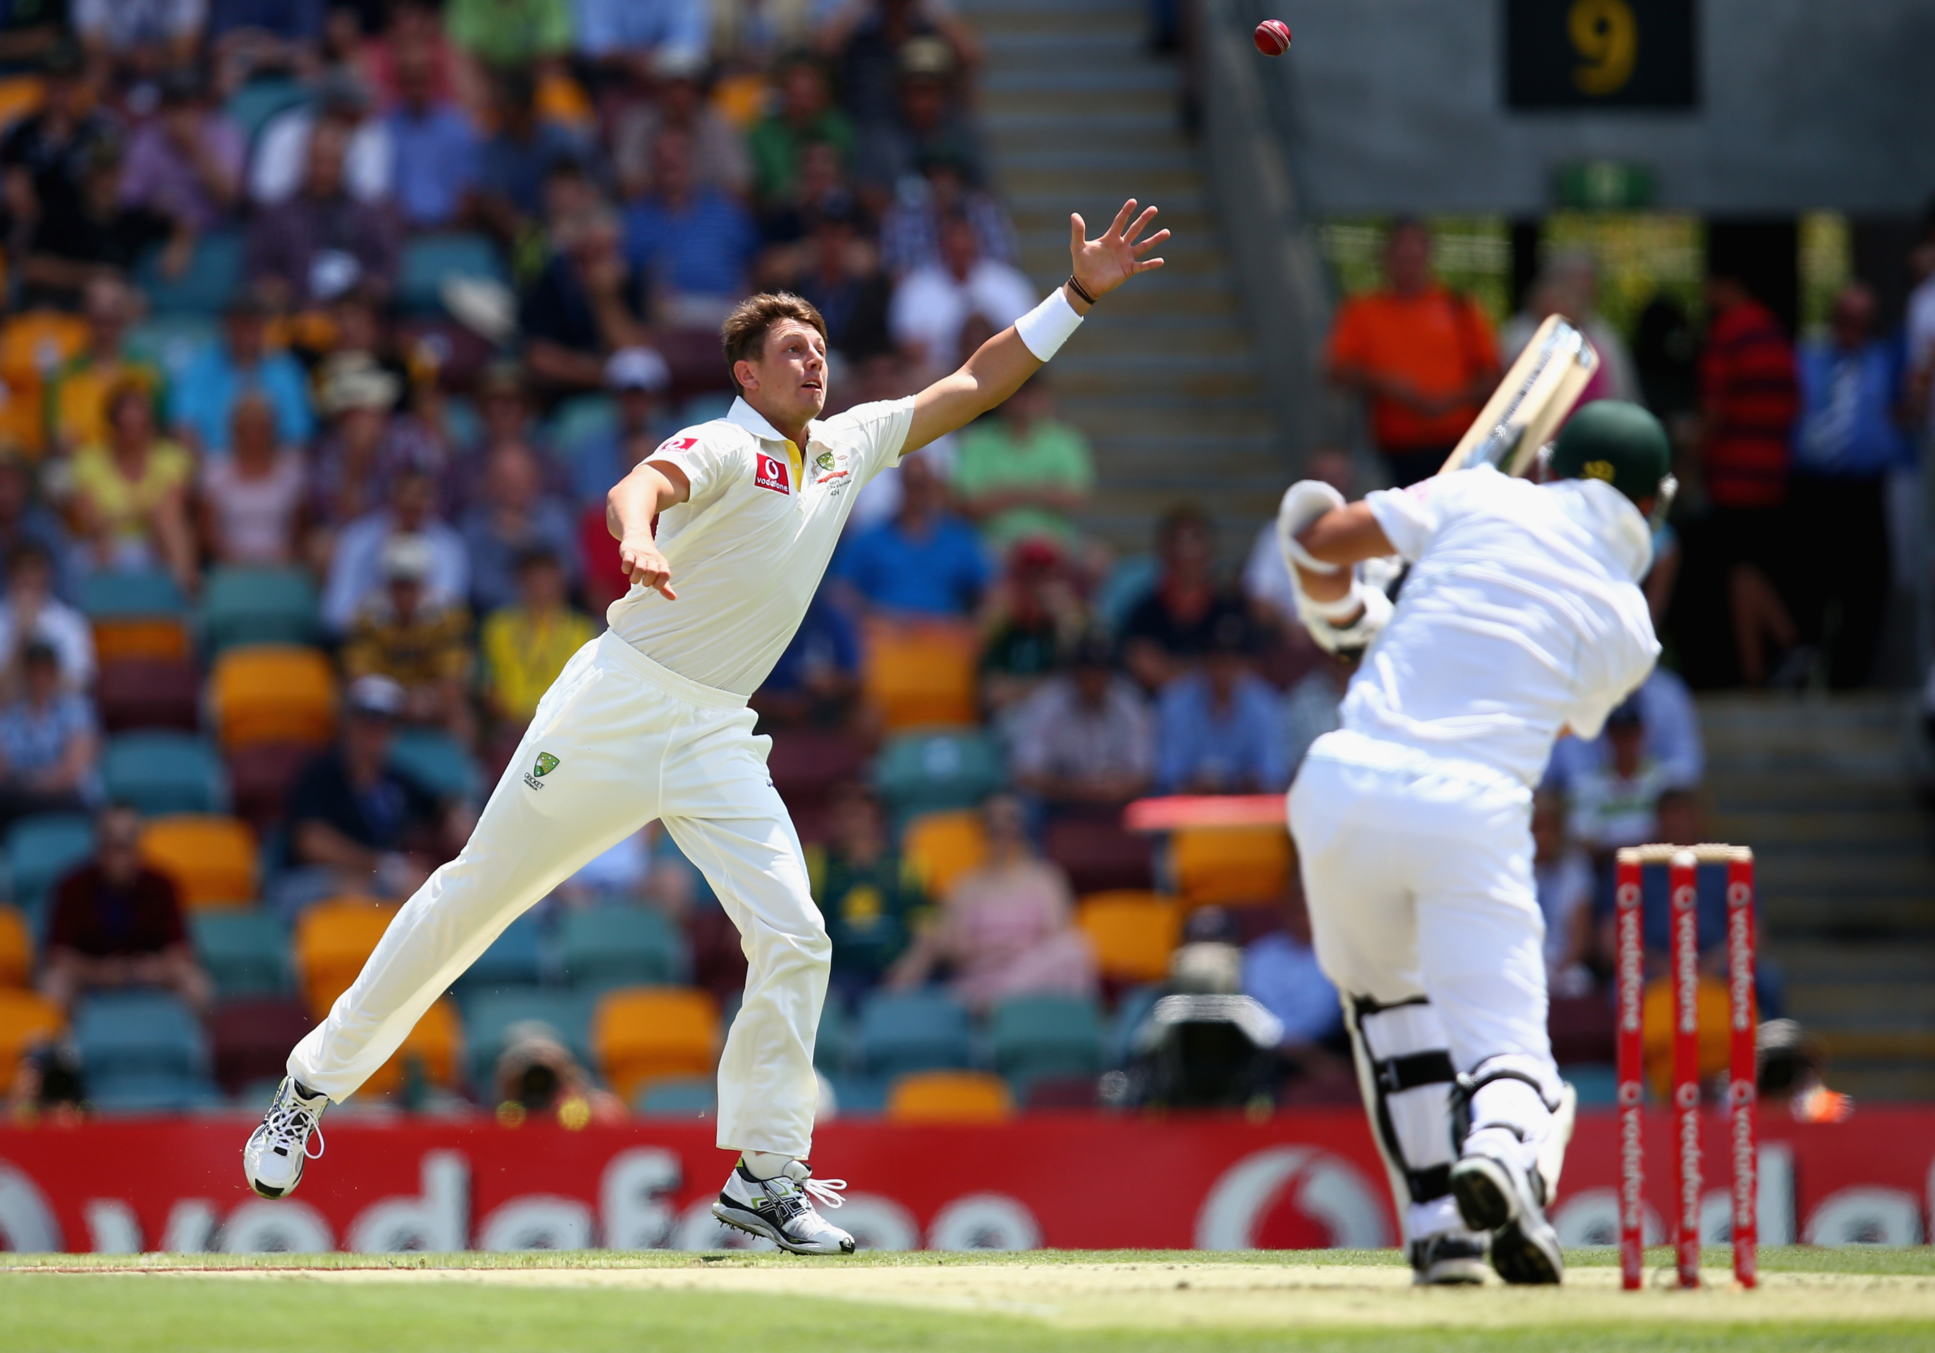
<path id="1" fill-rule="evenodd" d="M 1411 563 L 1343 726 L 1536 784 L 1560 728 L 1596 737 L 1658 658 L 1639 509 L 1596 480 L 1490 466 L 1364 499 Z"/>

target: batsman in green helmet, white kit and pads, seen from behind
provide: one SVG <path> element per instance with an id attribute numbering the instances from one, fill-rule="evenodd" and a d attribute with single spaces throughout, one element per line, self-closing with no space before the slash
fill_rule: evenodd
<path id="1" fill-rule="evenodd" d="M 1658 420 L 1602 401 L 1534 478 L 1447 466 L 1349 505 L 1304 480 L 1277 513 L 1300 619 L 1362 648 L 1289 813 L 1418 1283 L 1482 1281 L 1486 1256 L 1507 1283 L 1563 1278 L 1546 1206 L 1573 1092 L 1546 1036 L 1533 786 L 1658 656 L 1639 581 L 1670 496 Z M 1391 556 L 1395 604 L 1362 567 Z"/>

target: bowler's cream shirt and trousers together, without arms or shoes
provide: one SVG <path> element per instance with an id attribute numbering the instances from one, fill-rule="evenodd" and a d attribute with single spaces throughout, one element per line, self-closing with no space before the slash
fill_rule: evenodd
<path id="1" fill-rule="evenodd" d="M 853 497 L 908 439 L 913 401 L 809 426 L 805 451 L 745 403 L 666 441 L 693 482 L 658 523 L 679 600 L 633 588 L 571 658 L 457 859 L 391 921 L 354 985 L 288 1057 L 333 1099 L 395 1051 L 503 929 L 586 859 L 660 819 L 747 954 L 720 1057 L 718 1144 L 805 1158 L 813 1039 L 832 947 L 747 695 L 786 648 Z"/>

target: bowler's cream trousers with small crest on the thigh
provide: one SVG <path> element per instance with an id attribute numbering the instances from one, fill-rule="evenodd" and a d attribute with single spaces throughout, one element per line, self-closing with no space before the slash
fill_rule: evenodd
<path id="1" fill-rule="evenodd" d="M 766 776 L 772 741 L 753 720 L 745 699 L 610 633 L 584 645 L 540 701 L 462 854 L 397 912 L 288 1072 L 331 1099 L 354 1094 L 517 916 L 656 817 L 718 892 L 749 964 L 720 1057 L 718 1144 L 809 1156 L 832 945 Z"/>

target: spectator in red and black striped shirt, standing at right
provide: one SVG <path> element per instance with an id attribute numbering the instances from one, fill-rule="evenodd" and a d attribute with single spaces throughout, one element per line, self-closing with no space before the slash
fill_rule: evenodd
<path id="1" fill-rule="evenodd" d="M 1800 391 L 1794 345 L 1774 314 L 1726 273 L 1707 279 L 1701 354 L 1701 470 L 1712 532 L 1726 561 L 1740 679 L 1763 685 L 1772 650 L 1798 643 L 1780 598 L 1780 513 L 1788 499 Z"/>

